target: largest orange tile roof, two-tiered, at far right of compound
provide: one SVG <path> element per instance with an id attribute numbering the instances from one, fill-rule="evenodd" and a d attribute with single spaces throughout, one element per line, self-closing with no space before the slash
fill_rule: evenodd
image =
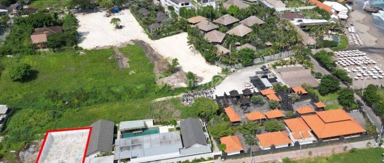
<path id="1" fill-rule="evenodd" d="M 318 138 L 339 137 L 340 135 L 348 135 L 366 131 L 352 117 L 347 119 L 344 110 L 334 112 L 334 110 L 317 112 L 314 115 L 302 116 L 303 120 L 308 124 Z M 318 114 L 321 114 L 321 118 Z M 325 116 L 337 114 L 338 116 Z M 347 113 L 345 113 L 347 114 Z M 337 119 L 339 117 L 339 119 Z M 323 120 L 328 122 L 325 122 Z"/>

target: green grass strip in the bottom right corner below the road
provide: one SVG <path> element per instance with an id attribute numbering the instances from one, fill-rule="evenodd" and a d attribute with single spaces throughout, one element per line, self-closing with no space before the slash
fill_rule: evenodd
<path id="1" fill-rule="evenodd" d="M 384 149 L 377 148 L 367 148 L 367 149 L 357 149 L 356 152 L 340 153 L 334 154 L 329 157 L 316 157 L 316 158 L 307 158 L 302 160 L 297 160 L 294 162 L 297 163 L 379 163 L 382 162 L 383 157 L 381 154 L 384 153 Z"/>

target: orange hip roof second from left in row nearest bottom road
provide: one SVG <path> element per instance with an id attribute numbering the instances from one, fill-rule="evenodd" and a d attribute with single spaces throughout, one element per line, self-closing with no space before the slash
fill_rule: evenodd
<path id="1" fill-rule="evenodd" d="M 270 147 L 271 145 L 280 146 L 292 143 L 288 134 L 284 131 L 257 134 L 256 137 L 262 147 Z"/>

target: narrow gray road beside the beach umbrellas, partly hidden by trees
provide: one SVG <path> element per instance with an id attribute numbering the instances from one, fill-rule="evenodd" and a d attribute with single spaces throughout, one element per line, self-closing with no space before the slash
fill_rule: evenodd
<path id="1" fill-rule="evenodd" d="M 319 63 L 314 58 L 312 58 L 311 56 L 309 56 L 309 58 L 311 59 L 311 62 L 313 63 L 313 66 L 315 67 L 316 71 L 321 72 L 323 75 L 330 74 L 330 72 L 325 68 L 323 68 L 322 66 L 320 66 Z M 341 83 L 341 86 L 344 88 L 347 88 L 347 86 L 344 85 L 343 83 Z M 358 96 L 356 93 L 354 94 L 354 96 L 356 100 L 359 100 L 363 103 L 362 110 L 366 113 L 368 119 L 376 126 L 377 131 L 380 131 L 381 129 L 380 118 L 373 113 L 372 108 L 368 107 L 367 104 L 364 102 L 364 100 L 360 98 L 360 96 Z"/>

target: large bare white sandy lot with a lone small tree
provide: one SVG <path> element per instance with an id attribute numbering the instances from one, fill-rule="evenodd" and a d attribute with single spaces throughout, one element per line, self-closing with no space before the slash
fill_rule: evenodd
<path id="1" fill-rule="evenodd" d="M 103 17 L 105 12 L 77 14 L 80 24 L 78 32 L 83 35 L 79 46 L 92 49 L 139 39 L 150 44 L 164 58 L 177 58 L 183 71 L 191 71 L 203 78 L 201 84 L 210 82 L 214 75 L 221 72 L 220 67 L 210 65 L 199 52 L 191 50 L 187 44 L 187 33 L 151 40 L 129 10 L 121 13 L 124 14 L 111 17 Z M 115 29 L 110 24 L 113 17 L 120 18 L 123 29 Z"/>

